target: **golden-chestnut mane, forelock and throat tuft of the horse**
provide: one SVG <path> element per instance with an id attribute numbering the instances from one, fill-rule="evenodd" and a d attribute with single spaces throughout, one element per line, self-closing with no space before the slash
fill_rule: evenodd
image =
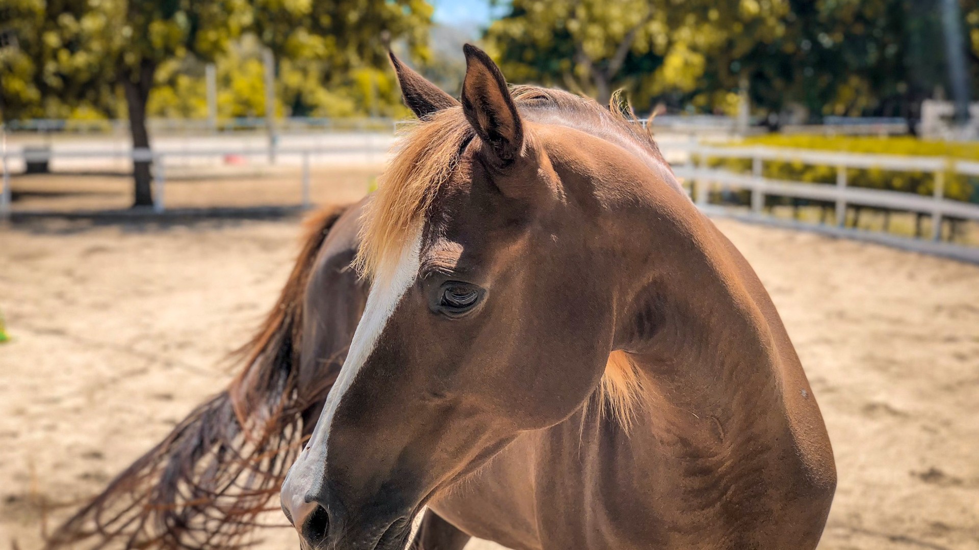
<path id="1" fill-rule="evenodd" d="M 628 107 L 628 104 L 622 103 L 618 93 L 613 96 L 609 109 L 589 98 L 536 86 L 513 86 L 511 93 L 518 102 L 528 96 L 545 94 L 558 110 L 616 128 L 662 159 L 652 134 L 630 122 L 624 114 L 621 105 Z M 360 244 L 354 266 L 362 276 L 374 277 L 384 266 L 396 262 L 409 236 L 424 222 L 433 200 L 474 135 L 461 107 L 429 115 L 402 135 L 396 154 L 378 178 L 378 190 L 360 219 Z M 628 430 L 639 409 L 640 390 L 639 374 L 629 354 L 611 352 L 596 389 L 601 409 L 610 411 Z"/>

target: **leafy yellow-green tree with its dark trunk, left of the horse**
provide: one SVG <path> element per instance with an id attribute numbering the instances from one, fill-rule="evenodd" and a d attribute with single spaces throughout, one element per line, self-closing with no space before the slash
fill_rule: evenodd
<path id="1" fill-rule="evenodd" d="M 163 79 L 172 80 L 170 100 L 176 90 L 193 93 L 197 84 L 173 69 L 212 61 L 246 32 L 255 32 L 283 61 L 294 112 L 333 103 L 336 96 L 322 87 L 341 75 L 360 96 L 374 98 L 373 111 L 394 104 L 396 87 L 377 68 L 387 65 L 393 39 L 424 57 L 432 15 L 423 0 L 6 0 L 3 10 L 3 21 L 16 23 L 23 35 L 23 48 L 0 58 L 3 115 L 67 116 L 78 109 L 121 115 L 121 90 L 138 149 L 151 145 L 146 119 L 158 71 L 163 67 Z M 259 101 L 264 107 L 264 98 Z M 154 107 L 170 115 L 195 112 L 193 105 L 175 103 L 177 109 L 168 110 L 161 97 Z M 151 162 L 134 160 L 133 179 L 134 206 L 152 205 Z"/>

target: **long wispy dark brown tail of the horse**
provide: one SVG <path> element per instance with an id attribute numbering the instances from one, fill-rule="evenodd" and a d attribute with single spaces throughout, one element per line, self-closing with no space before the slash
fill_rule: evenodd
<path id="1" fill-rule="evenodd" d="M 333 385 L 296 387 L 303 293 L 330 228 L 345 208 L 307 222 L 303 251 L 256 337 L 245 369 L 48 539 L 48 549 L 246 546 L 258 516 L 302 448 L 303 413 Z M 308 429 L 308 427 L 306 427 Z"/>

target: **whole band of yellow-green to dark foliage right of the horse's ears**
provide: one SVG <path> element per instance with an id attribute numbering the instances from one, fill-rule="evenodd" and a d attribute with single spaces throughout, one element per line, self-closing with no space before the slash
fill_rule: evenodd
<path id="1" fill-rule="evenodd" d="M 979 0 L 960 3 L 979 89 Z M 730 115 L 747 85 L 756 115 L 914 118 L 946 85 L 934 0 L 513 0 L 487 41 L 514 81 L 642 109 Z"/>

